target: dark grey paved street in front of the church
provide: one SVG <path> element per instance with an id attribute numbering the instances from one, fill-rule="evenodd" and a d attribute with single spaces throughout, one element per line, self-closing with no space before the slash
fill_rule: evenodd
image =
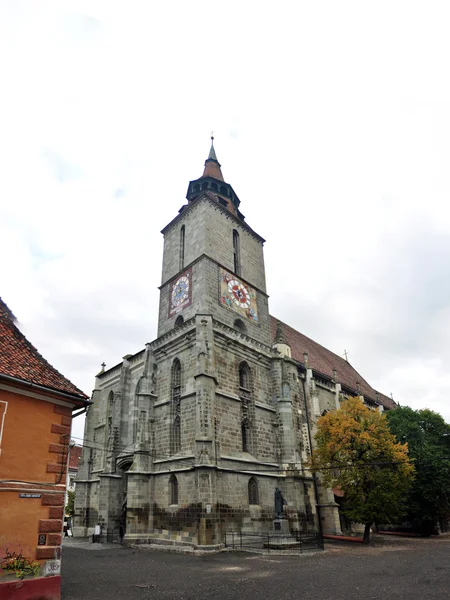
<path id="1" fill-rule="evenodd" d="M 448 600 L 450 537 L 332 547 L 298 557 L 189 556 L 86 546 L 63 550 L 63 600 Z"/>

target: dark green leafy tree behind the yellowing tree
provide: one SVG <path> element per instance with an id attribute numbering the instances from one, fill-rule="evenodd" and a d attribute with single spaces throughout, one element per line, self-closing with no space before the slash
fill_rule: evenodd
<path id="1" fill-rule="evenodd" d="M 416 478 L 408 494 L 407 516 L 423 535 L 450 518 L 450 425 L 432 410 L 407 406 L 388 413 L 390 430 L 407 442 Z"/>

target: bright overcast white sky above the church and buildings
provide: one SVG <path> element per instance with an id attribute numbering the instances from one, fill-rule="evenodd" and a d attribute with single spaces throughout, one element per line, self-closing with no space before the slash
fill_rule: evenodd
<path id="1" fill-rule="evenodd" d="M 22 331 L 88 394 L 156 337 L 159 232 L 214 130 L 271 313 L 450 421 L 449 17 L 0 0 L 0 295 Z"/>

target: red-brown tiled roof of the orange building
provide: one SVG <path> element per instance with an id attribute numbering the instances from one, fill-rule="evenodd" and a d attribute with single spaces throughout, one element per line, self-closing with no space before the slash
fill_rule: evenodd
<path id="1" fill-rule="evenodd" d="M 15 325 L 15 317 L 0 298 L 0 376 L 22 379 L 52 390 L 87 398 L 57 371 Z"/>

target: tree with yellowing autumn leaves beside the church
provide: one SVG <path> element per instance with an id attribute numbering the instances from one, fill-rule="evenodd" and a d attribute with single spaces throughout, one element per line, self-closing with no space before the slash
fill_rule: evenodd
<path id="1" fill-rule="evenodd" d="M 386 417 L 359 398 L 348 398 L 320 417 L 311 468 L 323 483 L 344 492 L 342 510 L 364 524 L 364 543 L 373 523 L 389 523 L 402 514 L 414 477 L 407 444 L 398 443 Z"/>

